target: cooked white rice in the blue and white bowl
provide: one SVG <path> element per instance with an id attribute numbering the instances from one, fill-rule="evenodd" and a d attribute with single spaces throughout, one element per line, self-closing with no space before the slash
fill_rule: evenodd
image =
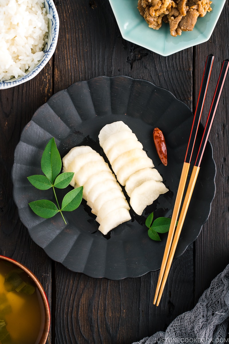
<path id="1" fill-rule="evenodd" d="M 0 82 L 25 75 L 44 56 L 44 0 L 0 0 Z"/>

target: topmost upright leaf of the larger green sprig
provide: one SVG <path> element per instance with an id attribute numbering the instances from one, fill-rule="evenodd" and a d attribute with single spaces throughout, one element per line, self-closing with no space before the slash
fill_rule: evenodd
<path id="1" fill-rule="evenodd" d="M 60 173 L 61 166 L 60 153 L 58 152 L 54 138 L 52 138 L 45 147 L 41 159 L 41 169 L 52 184 Z"/>

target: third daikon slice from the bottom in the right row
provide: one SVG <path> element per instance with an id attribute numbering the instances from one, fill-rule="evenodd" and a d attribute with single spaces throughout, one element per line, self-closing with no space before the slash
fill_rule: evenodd
<path id="1" fill-rule="evenodd" d="M 121 185 L 125 185 L 131 174 L 146 167 L 154 167 L 149 157 L 133 159 L 116 172 L 117 180 Z"/>

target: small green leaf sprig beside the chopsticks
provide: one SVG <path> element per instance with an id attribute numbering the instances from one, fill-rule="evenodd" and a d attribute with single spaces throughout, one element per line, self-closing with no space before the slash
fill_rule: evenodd
<path id="1" fill-rule="evenodd" d="M 158 217 L 153 221 L 153 213 L 149 214 L 146 218 L 146 227 L 148 227 L 148 236 L 152 240 L 161 241 L 158 233 L 169 232 L 169 227 L 171 223 L 171 218 L 168 217 Z M 176 223 L 176 225 L 178 222 Z"/>

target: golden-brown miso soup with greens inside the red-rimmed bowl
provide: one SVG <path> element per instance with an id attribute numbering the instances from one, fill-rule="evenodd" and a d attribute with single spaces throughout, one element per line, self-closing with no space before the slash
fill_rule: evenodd
<path id="1" fill-rule="evenodd" d="M 30 276 L 0 259 L 0 343 L 38 344 L 44 321 L 41 294 Z"/>

